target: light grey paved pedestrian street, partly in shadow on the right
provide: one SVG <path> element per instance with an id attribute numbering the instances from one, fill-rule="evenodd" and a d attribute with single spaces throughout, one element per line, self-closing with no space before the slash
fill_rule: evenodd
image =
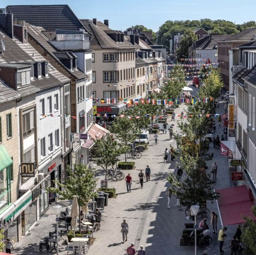
<path id="1" fill-rule="evenodd" d="M 195 88 L 194 88 L 195 90 Z M 220 109 L 217 113 L 223 113 L 223 105 L 221 102 Z M 185 105 L 175 109 L 175 113 L 180 113 L 183 109 L 186 110 Z M 169 120 L 169 126 L 173 124 Z M 180 120 L 178 120 L 180 121 Z M 218 123 L 217 119 L 216 122 Z M 177 120 L 174 122 L 174 131 L 178 130 Z M 222 134 L 223 127 L 217 126 L 215 135 Z M 194 254 L 194 248 L 191 246 L 180 246 L 180 237 L 183 230 L 183 224 L 187 221 L 185 212 L 182 207 L 175 206 L 176 199 L 171 198 L 172 206 L 167 208 L 166 190 L 169 183 L 166 182 L 166 177 L 172 172 L 177 163 L 177 159 L 171 163 L 163 162 L 163 154 L 165 148 L 170 147 L 170 144 L 176 146 L 174 139 L 170 141 L 169 134 L 159 133 L 158 144 L 154 144 L 153 135 L 150 135 L 150 142 L 148 150 L 142 153 L 140 159 L 135 159 L 135 169 L 125 170 L 125 175 L 130 172 L 133 178 L 131 193 L 127 193 L 125 181 L 109 182 L 109 187 L 115 187 L 117 192 L 116 199 L 109 199 L 108 206 L 105 207 L 105 212 L 102 214 L 103 222 L 101 229 L 94 234 L 95 242 L 89 250 L 89 255 L 113 255 L 126 254 L 126 248 L 131 242 L 135 243 L 135 249 L 138 250 L 140 245 L 144 245 L 147 255 L 155 254 Z M 227 161 L 220 155 L 220 149 L 215 149 L 210 143 L 210 153 L 214 153 L 213 160 L 207 162 L 210 173 L 210 168 L 213 161 L 218 164 L 217 183 L 214 188 L 225 188 L 230 186 L 230 176 L 227 171 Z M 130 161 L 130 159 L 129 159 Z M 138 174 L 140 169 L 145 169 L 146 165 L 151 168 L 151 178 L 149 182 L 145 182 L 143 189 L 140 188 Z M 99 176 L 103 179 L 103 173 Z M 64 202 L 67 204 L 67 202 Z M 217 202 L 208 202 L 207 207 L 210 211 L 218 212 Z M 218 212 L 219 216 L 219 212 Z M 129 224 L 128 241 L 122 243 L 121 223 L 123 218 Z M 38 221 L 37 226 L 34 227 L 28 236 L 24 237 L 22 241 L 15 248 L 15 253 L 18 254 L 37 254 L 38 243 L 42 237 L 47 236 L 48 232 L 53 229 L 54 213 L 52 208 L 47 214 Z M 220 217 L 219 217 L 220 219 Z M 199 221 L 200 219 L 198 219 Z M 207 218 L 210 222 L 210 216 Z M 211 226 L 210 226 L 211 228 Z M 218 229 L 221 228 L 220 220 L 218 222 Z M 212 229 L 211 229 L 212 230 Z M 229 244 L 231 237 L 234 235 L 235 227 L 229 227 L 227 231 L 227 240 L 223 250 L 229 253 Z M 219 254 L 219 242 L 217 235 L 212 234 L 213 243 L 206 248 L 198 247 L 197 254 L 202 254 L 204 250 L 208 250 L 210 255 Z M 62 243 L 62 241 L 61 241 Z M 60 254 L 66 254 L 66 246 L 60 246 Z M 43 252 L 45 253 L 45 252 Z"/>

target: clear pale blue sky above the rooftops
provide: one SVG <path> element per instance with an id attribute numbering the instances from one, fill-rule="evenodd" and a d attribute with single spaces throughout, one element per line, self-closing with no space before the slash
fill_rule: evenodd
<path id="1" fill-rule="evenodd" d="M 255 0 L 0 0 L 6 5 L 68 4 L 79 19 L 109 20 L 125 30 L 136 24 L 158 31 L 167 20 L 224 19 L 241 24 L 256 20 Z"/>

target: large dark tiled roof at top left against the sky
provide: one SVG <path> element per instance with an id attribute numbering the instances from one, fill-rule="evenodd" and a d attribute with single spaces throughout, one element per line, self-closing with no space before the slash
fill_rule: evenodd
<path id="1" fill-rule="evenodd" d="M 85 29 L 68 5 L 8 5 L 7 13 L 13 13 L 15 20 L 24 20 L 45 30 Z"/>

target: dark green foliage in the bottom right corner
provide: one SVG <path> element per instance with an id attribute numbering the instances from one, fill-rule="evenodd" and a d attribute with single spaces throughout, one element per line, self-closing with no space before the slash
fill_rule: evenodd
<path id="1" fill-rule="evenodd" d="M 256 217 L 256 207 L 252 207 L 252 212 Z M 245 217 L 246 222 L 242 228 L 242 242 L 246 255 L 256 255 L 256 222 L 251 217 Z M 243 254 L 244 254 L 243 253 Z"/>

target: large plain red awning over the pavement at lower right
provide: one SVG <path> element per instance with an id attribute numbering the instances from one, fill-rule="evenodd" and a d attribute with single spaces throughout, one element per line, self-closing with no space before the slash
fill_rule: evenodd
<path id="1" fill-rule="evenodd" d="M 253 203 L 245 185 L 223 188 L 216 190 L 216 192 L 220 196 L 218 206 L 222 226 L 242 224 L 245 222 L 243 217 L 251 217 L 256 220 L 251 211 Z"/>

